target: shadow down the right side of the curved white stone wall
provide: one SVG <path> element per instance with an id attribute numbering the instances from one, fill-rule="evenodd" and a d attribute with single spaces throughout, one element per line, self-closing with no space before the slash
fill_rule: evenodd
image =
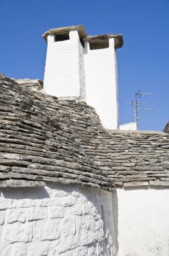
<path id="1" fill-rule="evenodd" d="M 50 189 L 56 189 L 56 183 L 48 183 Z M 101 247 L 107 255 L 117 255 L 119 248 L 118 244 L 118 200 L 117 192 L 104 191 L 102 189 L 96 189 L 91 187 L 80 187 L 74 185 L 64 186 L 62 184 L 57 185 L 57 191 L 61 195 L 66 192 L 67 194 L 74 194 L 76 197 L 84 197 L 85 201 L 88 202 L 91 207 L 95 206 L 98 214 L 97 220 L 101 219 L 103 222 L 103 241 L 99 241 Z M 92 206 L 93 205 L 93 206 Z M 85 205 L 82 205 L 85 207 Z M 94 210 L 94 208 L 93 208 Z M 88 215 L 85 213 L 84 215 Z M 99 218 L 99 219 L 98 219 Z M 114 242 L 113 242 L 114 241 Z M 98 241 L 93 241 L 93 246 L 97 249 Z M 113 244 L 112 244 L 113 243 Z M 87 245 L 91 247 L 91 245 Z M 112 248 L 111 248 L 112 247 Z"/>

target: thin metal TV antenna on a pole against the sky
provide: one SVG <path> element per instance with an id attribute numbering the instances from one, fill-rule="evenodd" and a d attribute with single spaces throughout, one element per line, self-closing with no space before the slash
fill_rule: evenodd
<path id="1" fill-rule="evenodd" d="M 139 89 L 138 92 L 135 93 L 135 102 L 131 102 L 131 106 L 133 106 L 134 109 L 134 119 L 136 123 L 136 129 L 139 129 L 139 110 L 154 110 L 154 108 L 140 108 L 139 104 L 147 104 L 148 102 L 139 102 L 138 98 L 140 98 L 142 95 L 150 95 L 153 94 L 153 92 L 140 92 L 141 89 Z"/>

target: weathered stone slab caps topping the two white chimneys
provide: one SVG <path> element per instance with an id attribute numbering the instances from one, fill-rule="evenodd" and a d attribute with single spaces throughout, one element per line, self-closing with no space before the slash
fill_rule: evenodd
<path id="1" fill-rule="evenodd" d="M 46 31 L 42 36 L 44 40 L 47 42 L 47 38 L 49 34 L 64 34 L 66 32 L 69 32 L 70 30 L 78 30 L 78 34 L 80 39 L 83 41 L 87 41 L 90 44 L 98 44 L 100 48 L 106 48 L 109 46 L 109 38 L 115 39 L 115 48 L 121 48 L 123 46 L 123 35 L 122 34 L 99 34 L 96 36 L 87 36 L 87 32 L 84 29 L 83 25 L 77 25 L 77 26 L 68 26 L 63 28 L 52 28 L 48 31 Z M 95 46 L 93 46 L 95 49 Z"/>

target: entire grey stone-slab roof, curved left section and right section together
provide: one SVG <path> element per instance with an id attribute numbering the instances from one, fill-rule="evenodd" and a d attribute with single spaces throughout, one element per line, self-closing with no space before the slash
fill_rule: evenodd
<path id="1" fill-rule="evenodd" d="M 25 93 L 6 77 L 0 97 L 2 183 L 169 186 L 167 133 L 106 130 L 78 98 Z"/>

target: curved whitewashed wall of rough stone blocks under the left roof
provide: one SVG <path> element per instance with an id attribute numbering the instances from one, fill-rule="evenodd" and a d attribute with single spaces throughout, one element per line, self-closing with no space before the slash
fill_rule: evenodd
<path id="1" fill-rule="evenodd" d="M 1 189 L 0 255 L 117 255 L 113 193 L 49 183 Z"/>

